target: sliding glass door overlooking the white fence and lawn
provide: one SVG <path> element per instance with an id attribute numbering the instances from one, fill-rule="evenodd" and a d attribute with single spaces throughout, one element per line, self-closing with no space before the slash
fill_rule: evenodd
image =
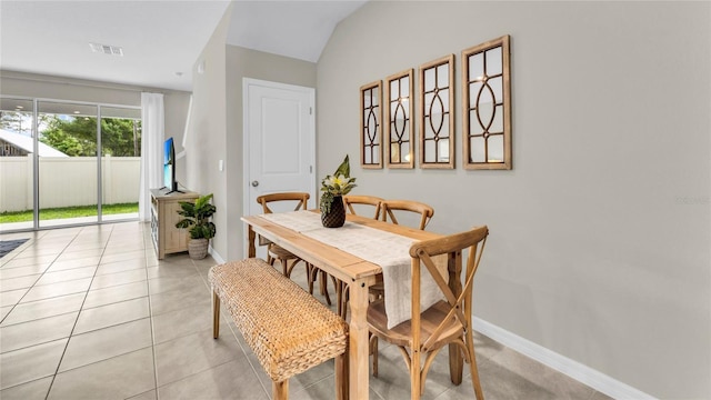
<path id="1" fill-rule="evenodd" d="M 137 219 L 140 118 L 139 108 L 3 98 L 0 231 Z"/>

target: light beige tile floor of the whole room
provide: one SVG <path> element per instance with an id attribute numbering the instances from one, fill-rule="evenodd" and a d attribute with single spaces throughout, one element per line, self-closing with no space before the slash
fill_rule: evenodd
<path id="1" fill-rule="evenodd" d="M 223 319 L 212 339 L 211 258 L 159 261 L 138 222 L 0 236 L 19 238 L 30 240 L 0 259 L 3 400 L 270 398 L 239 331 Z M 475 346 L 487 399 L 608 399 L 484 336 Z M 380 354 L 370 398 L 409 399 L 399 351 L 381 343 Z M 332 399 L 332 361 L 292 378 L 290 396 Z M 442 351 L 422 398 L 473 399 L 468 369 L 451 384 Z"/>

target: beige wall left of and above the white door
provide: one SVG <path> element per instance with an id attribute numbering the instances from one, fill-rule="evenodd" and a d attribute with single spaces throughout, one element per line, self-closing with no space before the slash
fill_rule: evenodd
<path id="1" fill-rule="evenodd" d="M 193 69 L 193 99 L 186 161 L 188 187 L 214 193 L 218 232 L 213 250 L 222 260 L 243 258 L 242 79 L 316 87 L 316 64 L 226 46 L 228 9 Z M 204 72 L 198 73 L 198 66 Z M 224 171 L 218 161 L 224 160 Z"/>

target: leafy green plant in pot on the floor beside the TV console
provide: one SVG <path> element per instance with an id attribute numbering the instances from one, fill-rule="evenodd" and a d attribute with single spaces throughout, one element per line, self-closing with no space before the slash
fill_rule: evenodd
<path id="1" fill-rule="evenodd" d="M 199 197 L 194 203 L 180 201 L 179 214 L 184 218 L 176 223 L 176 228 L 188 228 L 190 241 L 188 252 L 193 260 L 201 260 L 208 254 L 210 239 L 214 238 L 214 223 L 210 221 L 217 208 L 210 203 L 212 193 Z"/>

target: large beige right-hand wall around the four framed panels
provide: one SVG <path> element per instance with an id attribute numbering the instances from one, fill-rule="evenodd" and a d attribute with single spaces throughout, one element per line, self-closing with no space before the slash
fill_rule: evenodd
<path id="1" fill-rule="evenodd" d="M 349 153 L 353 193 L 428 202 L 438 232 L 488 224 L 484 321 L 651 396 L 709 399 L 710 7 L 371 1 L 318 63 L 319 177 Z M 455 170 L 359 167 L 361 84 L 449 53 L 460 84 L 460 51 L 507 33 L 513 170 L 464 171 L 461 143 Z"/>

